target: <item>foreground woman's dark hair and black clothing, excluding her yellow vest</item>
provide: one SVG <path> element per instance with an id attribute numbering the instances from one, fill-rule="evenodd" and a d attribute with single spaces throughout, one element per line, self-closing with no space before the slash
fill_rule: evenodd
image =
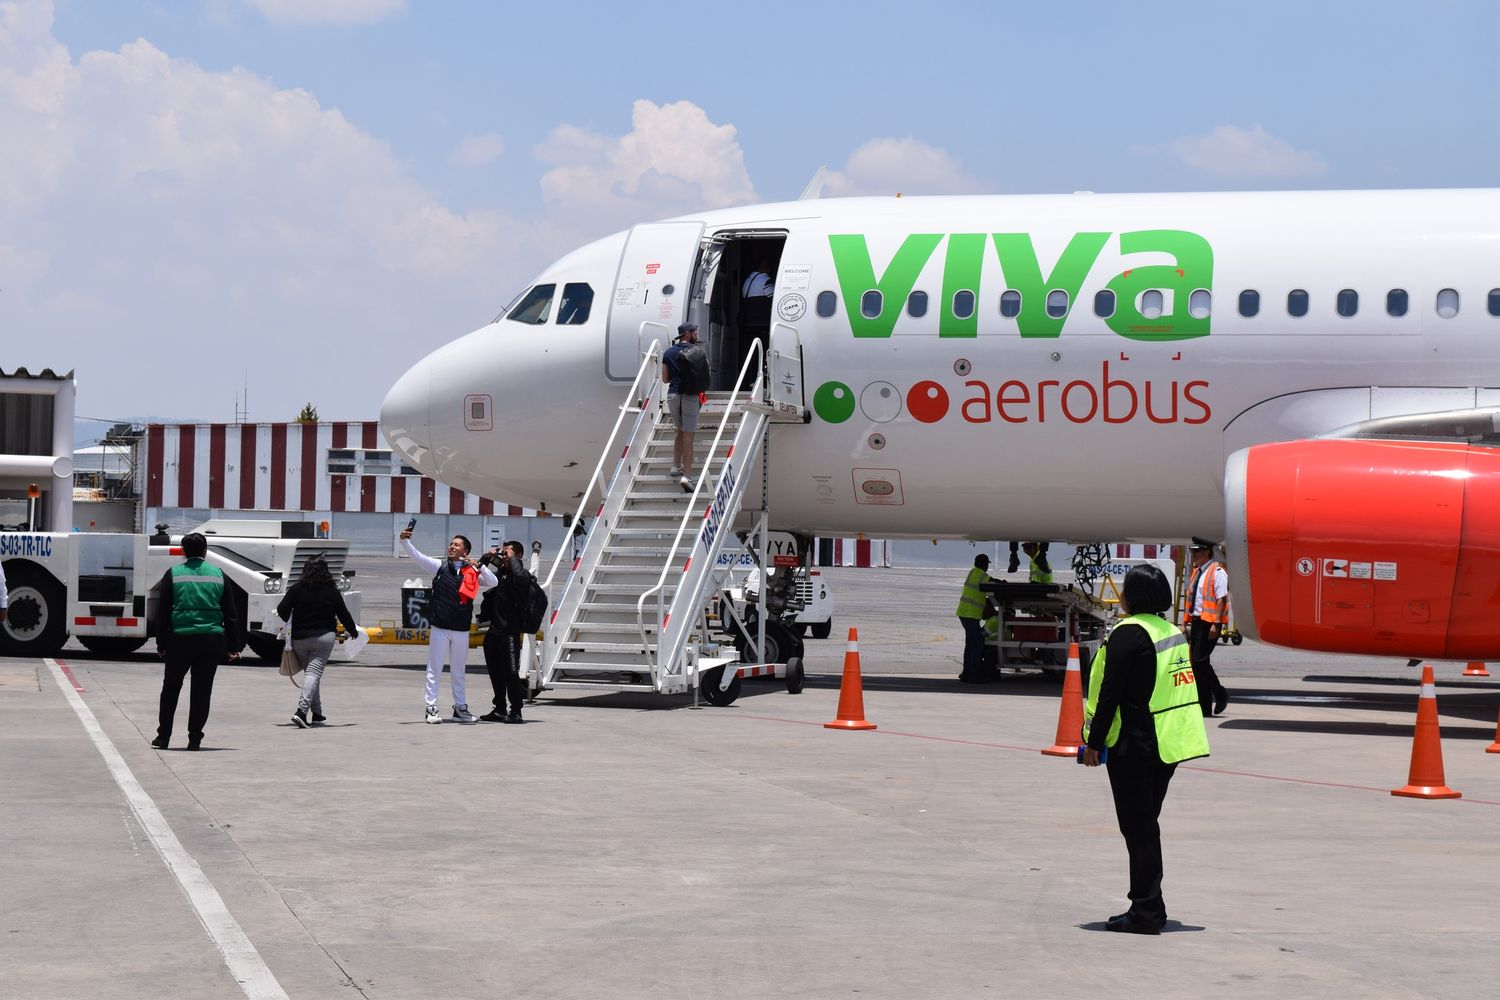
<path id="1" fill-rule="evenodd" d="M 1120 588 L 1120 610 L 1126 615 L 1161 615 L 1172 607 L 1172 583 L 1150 564 L 1136 565 Z M 1130 909 L 1104 927 L 1126 934 L 1160 934 L 1167 922 L 1161 898 L 1161 804 L 1178 765 L 1164 765 L 1156 753 L 1156 727 L 1150 717 L 1150 694 L 1156 687 L 1156 649 L 1144 628 L 1122 622 L 1104 645 L 1104 679 L 1089 724 L 1083 763 L 1096 768 L 1106 738 L 1120 714 L 1120 732 L 1104 760 L 1114 795 L 1125 850 L 1130 855 Z"/>

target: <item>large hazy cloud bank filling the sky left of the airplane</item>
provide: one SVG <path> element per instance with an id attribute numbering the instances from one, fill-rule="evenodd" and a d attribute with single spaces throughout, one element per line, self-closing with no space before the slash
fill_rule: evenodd
<path id="1" fill-rule="evenodd" d="M 226 418 L 248 373 L 252 417 L 369 417 L 536 270 L 534 223 L 452 210 L 310 93 L 147 40 L 74 58 L 51 22 L 0 6 L 0 354 L 76 367 L 84 412 Z"/>

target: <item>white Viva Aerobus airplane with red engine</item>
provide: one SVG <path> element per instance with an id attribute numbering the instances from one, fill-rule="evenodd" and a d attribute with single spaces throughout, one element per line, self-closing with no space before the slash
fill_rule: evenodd
<path id="1" fill-rule="evenodd" d="M 766 264 L 762 264 L 765 261 Z M 742 295 L 768 268 L 770 298 Z M 390 390 L 424 474 L 568 511 L 642 351 L 801 351 L 772 526 L 1224 537 L 1269 642 L 1500 658 L 1500 190 L 849 198 L 639 225 Z"/>

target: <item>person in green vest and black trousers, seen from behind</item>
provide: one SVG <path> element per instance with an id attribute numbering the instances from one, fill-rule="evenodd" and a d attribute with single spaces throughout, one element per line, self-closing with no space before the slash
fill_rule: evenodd
<path id="1" fill-rule="evenodd" d="M 196 531 L 189 532 L 183 535 L 182 553 L 184 561 L 170 568 L 158 585 L 156 655 L 166 661 L 156 739 L 152 741 L 158 750 L 166 750 L 171 742 L 177 696 L 189 673 L 188 750 L 200 748 L 213 700 L 213 675 L 225 654 L 238 660 L 244 646 L 234 595 L 219 567 L 206 559 L 208 540 Z"/>

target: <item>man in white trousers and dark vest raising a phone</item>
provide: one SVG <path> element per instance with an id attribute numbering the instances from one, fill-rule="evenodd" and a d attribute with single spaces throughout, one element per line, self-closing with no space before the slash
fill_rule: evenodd
<path id="1" fill-rule="evenodd" d="M 428 639 L 428 687 L 424 720 L 434 726 L 442 721 L 438 712 L 438 685 L 442 681 L 442 663 L 448 663 L 448 682 L 453 685 L 453 721 L 478 721 L 468 711 L 464 693 L 464 670 L 468 666 L 470 625 L 474 622 L 474 598 L 483 588 L 498 582 L 488 567 L 470 558 L 470 540 L 453 535 L 446 559 L 434 559 L 411 544 L 411 532 L 417 519 L 406 522 L 400 541 L 406 555 L 432 574 L 432 595 L 428 601 L 428 622 L 432 625 Z"/>

